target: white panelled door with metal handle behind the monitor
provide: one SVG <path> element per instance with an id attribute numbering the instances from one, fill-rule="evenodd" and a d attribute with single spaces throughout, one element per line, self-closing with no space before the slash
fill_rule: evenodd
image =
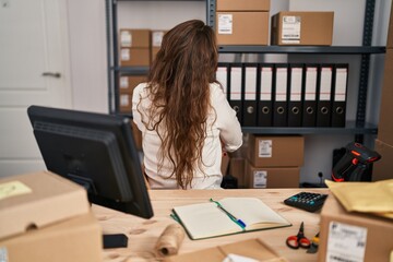
<path id="1" fill-rule="evenodd" d="M 45 169 L 26 109 L 71 108 L 66 0 L 0 0 L 0 177 Z"/>

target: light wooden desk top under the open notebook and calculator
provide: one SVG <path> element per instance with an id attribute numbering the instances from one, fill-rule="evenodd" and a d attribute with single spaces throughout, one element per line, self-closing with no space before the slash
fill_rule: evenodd
<path id="1" fill-rule="evenodd" d="M 293 226 L 204 240 L 190 240 L 188 236 L 186 236 L 179 253 L 250 238 L 261 238 L 276 250 L 276 252 L 288 259 L 288 261 L 317 261 L 317 254 L 306 253 L 305 249 L 293 250 L 285 245 L 286 237 L 297 234 L 301 222 L 305 222 L 305 234 L 308 238 L 312 238 L 319 231 L 319 212 L 309 213 L 283 203 L 284 199 L 300 191 L 317 193 L 329 192 L 327 189 L 150 190 L 154 210 L 154 217 L 151 219 L 143 219 L 103 206 L 93 205 L 93 212 L 103 225 L 105 234 L 123 233 L 129 237 L 128 248 L 104 250 L 104 261 L 159 261 L 154 253 L 154 246 L 166 226 L 175 223 L 169 217 L 172 206 L 206 202 L 210 198 L 219 200 L 226 196 L 259 198 L 288 219 Z"/>

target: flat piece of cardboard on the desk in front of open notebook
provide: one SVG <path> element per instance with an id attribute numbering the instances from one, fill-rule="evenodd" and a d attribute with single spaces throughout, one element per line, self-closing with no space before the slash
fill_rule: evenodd
<path id="1" fill-rule="evenodd" d="M 255 261 L 287 261 L 260 239 L 248 239 L 214 248 L 165 258 L 165 262 L 222 262 L 228 254 L 237 254 Z M 230 260 L 233 261 L 233 260 Z"/>

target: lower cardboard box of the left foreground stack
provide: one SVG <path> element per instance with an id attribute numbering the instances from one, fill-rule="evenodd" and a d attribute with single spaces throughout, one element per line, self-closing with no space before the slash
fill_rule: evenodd
<path id="1" fill-rule="evenodd" d="M 78 202 L 72 204 L 78 205 Z M 102 248 L 100 225 L 92 213 L 87 213 L 0 240 L 0 259 L 11 262 L 97 262 L 103 261 Z"/>

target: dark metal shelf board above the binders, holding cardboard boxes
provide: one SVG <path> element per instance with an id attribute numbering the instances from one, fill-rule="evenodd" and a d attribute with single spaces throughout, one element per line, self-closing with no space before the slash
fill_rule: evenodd
<path id="1" fill-rule="evenodd" d="M 218 46 L 221 53 L 329 53 L 367 55 L 385 53 L 384 46 Z"/>

